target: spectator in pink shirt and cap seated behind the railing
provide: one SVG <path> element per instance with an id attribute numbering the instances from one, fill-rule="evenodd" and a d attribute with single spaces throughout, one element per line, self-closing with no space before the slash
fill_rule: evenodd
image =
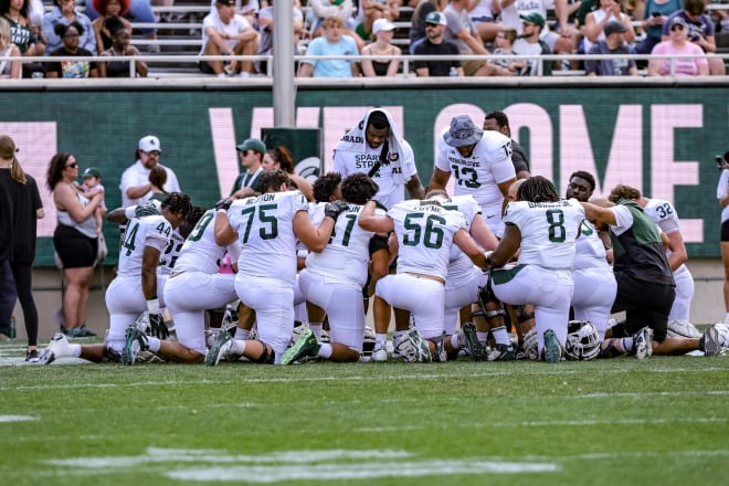
<path id="1" fill-rule="evenodd" d="M 656 44 L 652 54 L 696 54 L 694 59 L 651 59 L 648 76 L 705 76 L 709 63 L 701 47 L 688 41 L 688 24 L 683 17 L 669 17 L 670 39 Z M 675 71 L 672 72 L 672 66 Z"/>

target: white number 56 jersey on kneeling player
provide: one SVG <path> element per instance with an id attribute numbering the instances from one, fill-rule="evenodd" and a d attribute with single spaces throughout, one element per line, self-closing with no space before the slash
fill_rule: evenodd
<path id="1" fill-rule="evenodd" d="M 398 273 L 412 272 L 445 278 L 453 235 L 468 224 L 458 211 L 450 211 L 420 200 L 395 204 L 388 215 L 398 236 Z"/>

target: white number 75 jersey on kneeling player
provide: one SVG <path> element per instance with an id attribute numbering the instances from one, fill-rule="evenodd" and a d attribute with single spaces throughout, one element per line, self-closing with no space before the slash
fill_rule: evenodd
<path id="1" fill-rule="evenodd" d="M 306 198 L 298 191 L 273 192 L 235 201 L 228 220 L 239 235 L 239 274 L 296 279 L 296 236 L 294 216 L 307 211 Z"/>

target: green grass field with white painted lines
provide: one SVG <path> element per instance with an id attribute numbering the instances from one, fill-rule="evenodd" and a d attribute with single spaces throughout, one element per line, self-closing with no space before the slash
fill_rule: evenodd
<path id="1" fill-rule="evenodd" d="M 729 484 L 729 357 L 25 366 L 3 485 Z"/>

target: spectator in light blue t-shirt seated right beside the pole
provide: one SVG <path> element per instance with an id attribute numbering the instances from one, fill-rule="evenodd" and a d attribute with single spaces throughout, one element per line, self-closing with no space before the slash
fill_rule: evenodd
<path id="1" fill-rule="evenodd" d="M 309 43 L 306 55 L 346 55 L 359 54 L 357 43 L 350 35 L 344 34 L 345 24 L 339 17 L 324 20 L 324 35 Z M 352 77 L 358 74 L 357 61 L 307 59 L 302 61 L 298 75 L 302 77 Z"/>

